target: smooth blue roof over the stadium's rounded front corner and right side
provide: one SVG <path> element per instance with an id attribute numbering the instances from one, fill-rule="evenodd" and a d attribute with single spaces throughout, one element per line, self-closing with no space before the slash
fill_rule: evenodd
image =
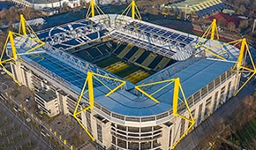
<path id="1" fill-rule="evenodd" d="M 182 71 L 178 71 L 169 79 L 180 78 L 184 94 L 186 97 L 189 97 L 212 80 L 222 75 L 223 72 L 229 70 L 233 65 L 234 64 L 230 62 L 201 58 L 196 63 L 184 68 Z M 169 66 L 169 68 L 171 67 L 172 66 Z M 167 68 L 167 70 L 169 68 Z M 155 73 L 146 80 L 158 77 L 158 75 L 159 73 Z M 152 94 L 159 88 L 160 86 L 152 86 L 147 92 Z M 153 116 L 172 109 L 172 91 L 173 85 L 167 86 L 158 94 L 154 94 L 154 98 L 160 101 L 160 103 L 155 103 L 146 97 L 138 98 L 136 95 L 127 91 L 119 91 L 115 94 L 111 94 L 109 97 L 100 96 L 97 97 L 95 101 L 104 108 L 125 116 Z"/>

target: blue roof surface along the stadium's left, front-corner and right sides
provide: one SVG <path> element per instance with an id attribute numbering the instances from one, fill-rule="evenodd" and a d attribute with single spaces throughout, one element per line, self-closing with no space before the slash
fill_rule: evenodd
<path id="1" fill-rule="evenodd" d="M 64 60 L 61 60 L 62 58 L 60 57 L 56 57 L 53 54 L 49 55 L 49 52 L 41 53 L 40 56 L 26 55 L 22 56 L 22 58 L 27 62 L 33 60 L 34 63 L 55 73 L 58 77 L 67 81 L 74 92 L 77 92 L 78 94 L 80 93 L 80 89 L 87 77 L 84 71 L 79 71 L 68 62 L 64 63 Z M 174 67 L 180 68 L 186 61 L 191 61 L 193 63 L 165 78 L 180 78 L 186 97 L 196 93 L 234 65 L 230 62 L 213 59 L 191 58 L 184 62 L 178 62 L 177 64 L 171 65 L 163 71 L 155 73 L 151 77 L 142 80 L 139 84 L 148 83 L 152 79 L 157 79 L 160 75 L 166 74 L 166 71 L 171 71 Z M 171 74 L 171 72 L 169 72 L 169 74 Z M 154 94 L 154 98 L 160 101 L 160 103 L 155 103 L 146 96 L 137 96 L 134 93 L 134 90 L 131 89 L 129 91 L 119 90 L 106 97 L 104 94 L 108 91 L 95 79 L 94 87 L 94 101 L 100 104 L 103 108 L 124 116 L 153 116 L 169 111 L 169 109 L 172 108 L 173 84 L 167 86 L 161 92 Z M 115 86 L 111 87 L 113 88 Z M 152 94 L 160 87 L 161 86 L 151 86 L 145 90 L 147 93 Z M 87 94 L 85 94 L 85 96 L 87 97 Z"/>

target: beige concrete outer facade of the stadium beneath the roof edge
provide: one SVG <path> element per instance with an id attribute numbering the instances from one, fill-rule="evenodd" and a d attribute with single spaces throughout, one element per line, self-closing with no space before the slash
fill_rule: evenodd
<path id="1" fill-rule="evenodd" d="M 13 76 L 22 85 L 34 91 L 53 90 L 56 93 L 55 103 L 49 105 L 57 105 L 55 112 L 72 115 L 79 95 L 73 94 L 61 83 L 49 79 L 47 75 L 39 73 L 36 69 L 29 68 L 28 64 L 11 64 Z M 232 97 L 237 89 L 239 77 L 240 74 L 231 70 L 226 71 L 200 91 L 186 98 L 196 123 L 194 127 Z M 187 111 L 181 113 L 188 116 Z M 127 121 L 127 116 L 124 117 L 125 119 L 123 116 L 112 116 L 109 111 L 95 105 L 93 110 L 82 113 L 79 119 L 92 133 L 96 142 L 106 149 L 171 149 L 189 127 L 188 122 L 172 115 L 156 116 L 154 122 L 143 121 L 141 118 L 140 120 L 131 118 Z"/>

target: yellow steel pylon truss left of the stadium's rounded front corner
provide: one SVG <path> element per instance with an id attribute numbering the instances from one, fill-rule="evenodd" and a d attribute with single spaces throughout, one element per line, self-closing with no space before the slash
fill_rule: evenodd
<path id="1" fill-rule="evenodd" d="M 95 140 L 93 135 L 89 131 L 87 131 L 87 128 L 85 127 L 85 125 L 83 123 L 81 123 L 81 121 L 79 120 L 78 116 L 81 113 L 83 113 L 84 111 L 86 111 L 87 109 L 94 109 L 94 84 L 93 84 L 94 79 L 99 81 L 102 84 L 102 86 L 105 86 L 107 89 L 109 89 L 109 93 L 105 94 L 105 96 L 109 96 L 110 94 L 113 94 L 119 88 L 121 88 L 122 86 L 124 86 L 126 84 L 126 82 L 124 80 L 121 80 L 121 79 L 109 78 L 107 76 L 102 76 L 101 74 L 97 74 L 97 73 L 94 73 L 94 72 L 91 72 L 91 71 L 87 72 L 87 79 L 86 79 L 86 81 L 84 83 L 84 86 L 83 86 L 83 88 L 81 90 L 81 93 L 79 94 L 79 100 L 77 101 L 76 108 L 74 110 L 73 116 L 79 122 L 81 127 L 87 132 L 87 134 L 89 135 L 89 137 L 92 140 Z M 116 86 L 115 88 L 111 89 L 109 86 L 105 85 L 102 82 L 101 79 L 114 80 L 116 82 L 119 82 L 119 85 Z M 87 87 L 87 90 L 86 90 L 86 87 Z M 88 92 L 89 105 L 86 108 L 79 108 L 81 99 L 84 96 L 84 94 L 86 94 L 87 92 Z"/>

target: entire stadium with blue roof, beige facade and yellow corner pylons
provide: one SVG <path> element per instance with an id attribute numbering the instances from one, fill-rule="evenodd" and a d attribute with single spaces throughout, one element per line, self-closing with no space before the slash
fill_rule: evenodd
<path id="1" fill-rule="evenodd" d="M 117 15 L 92 0 L 87 19 L 36 33 L 21 15 L 0 62 L 45 114 L 74 116 L 104 148 L 168 150 L 255 75 L 245 39 L 215 37 L 216 20 L 198 37 L 141 20 L 134 1 Z"/>

